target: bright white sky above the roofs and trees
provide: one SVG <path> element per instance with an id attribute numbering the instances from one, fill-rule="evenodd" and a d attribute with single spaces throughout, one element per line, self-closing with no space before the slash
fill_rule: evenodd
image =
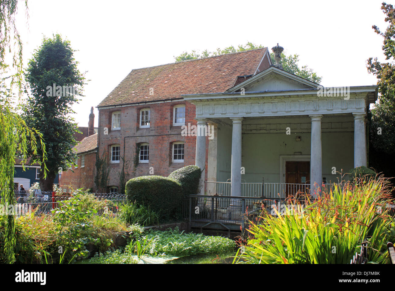
<path id="1" fill-rule="evenodd" d="M 20 4 L 23 1 L 21 1 Z M 173 56 L 192 49 L 252 42 L 286 54 L 300 55 L 322 76 L 324 86 L 376 84 L 366 60 L 384 61 L 382 37 L 372 29 L 387 27 L 382 0 L 322 1 L 87 1 L 28 0 L 18 28 L 25 67 L 43 35 L 59 33 L 71 42 L 79 70 L 91 81 L 74 106 L 79 126 L 88 126 L 96 106 L 134 68 L 173 63 Z"/>

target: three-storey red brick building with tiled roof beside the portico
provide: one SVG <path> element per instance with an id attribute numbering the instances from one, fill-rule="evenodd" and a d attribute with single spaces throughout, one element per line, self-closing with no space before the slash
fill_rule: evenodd
<path id="1" fill-rule="evenodd" d="M 120 186 L 122 169 L 127 181 L 194 165 L 196 136 L 181 131 L 183 125 L 196 125 L 196 107 L 182 95 L 223 93 L 270 65 L 267 48 L 261 48 L 132 70 L 98 105 L 98 150 L 111 169 L 108 186 Z M 213 180 L 210 148 L 216 150 L 206 139 L 204 175 L 214 167 Z"/>

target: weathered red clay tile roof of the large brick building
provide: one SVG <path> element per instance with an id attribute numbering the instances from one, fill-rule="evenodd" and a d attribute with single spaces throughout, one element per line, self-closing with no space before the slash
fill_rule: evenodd
<path id="1" fill-rule="evenodd" d="M 98 107 L 180 99 L 181 94 L 222 93 L 233 87 L 237 76 L 254 74 L 266 49 L 132 70 Z"/>

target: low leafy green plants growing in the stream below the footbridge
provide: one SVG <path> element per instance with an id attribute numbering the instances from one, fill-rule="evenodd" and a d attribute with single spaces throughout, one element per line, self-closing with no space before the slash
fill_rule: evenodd
<path id="1" fill-rule="evenodd" d="M 236 243 L 229 238 L 222 236 L 205 236 L 203 234 L 188 234 L 179 228 L 166 231 L 150 230 L 146 236 L 141 239 L 152 241 L 150 253 L 158 253 L 167 256 L 188 256 L 201 253 L 219 254 L 233 251 Z"/>

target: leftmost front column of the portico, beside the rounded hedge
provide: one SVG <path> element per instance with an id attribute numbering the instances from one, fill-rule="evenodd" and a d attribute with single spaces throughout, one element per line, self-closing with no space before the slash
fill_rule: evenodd
<path id="1" fill-rule="evenodd" d="M 196 118 L 198 121 L 198 134 L 196 136 L 196 155 L 195 165 L 197 165 L 201 172 L 199 181 L 199 195 L 204 195 L 204 179 L 205 179 L 205 165 L 206 165 L 206 137 L 204 127 L 206 126 L 205 118 Z"/>

